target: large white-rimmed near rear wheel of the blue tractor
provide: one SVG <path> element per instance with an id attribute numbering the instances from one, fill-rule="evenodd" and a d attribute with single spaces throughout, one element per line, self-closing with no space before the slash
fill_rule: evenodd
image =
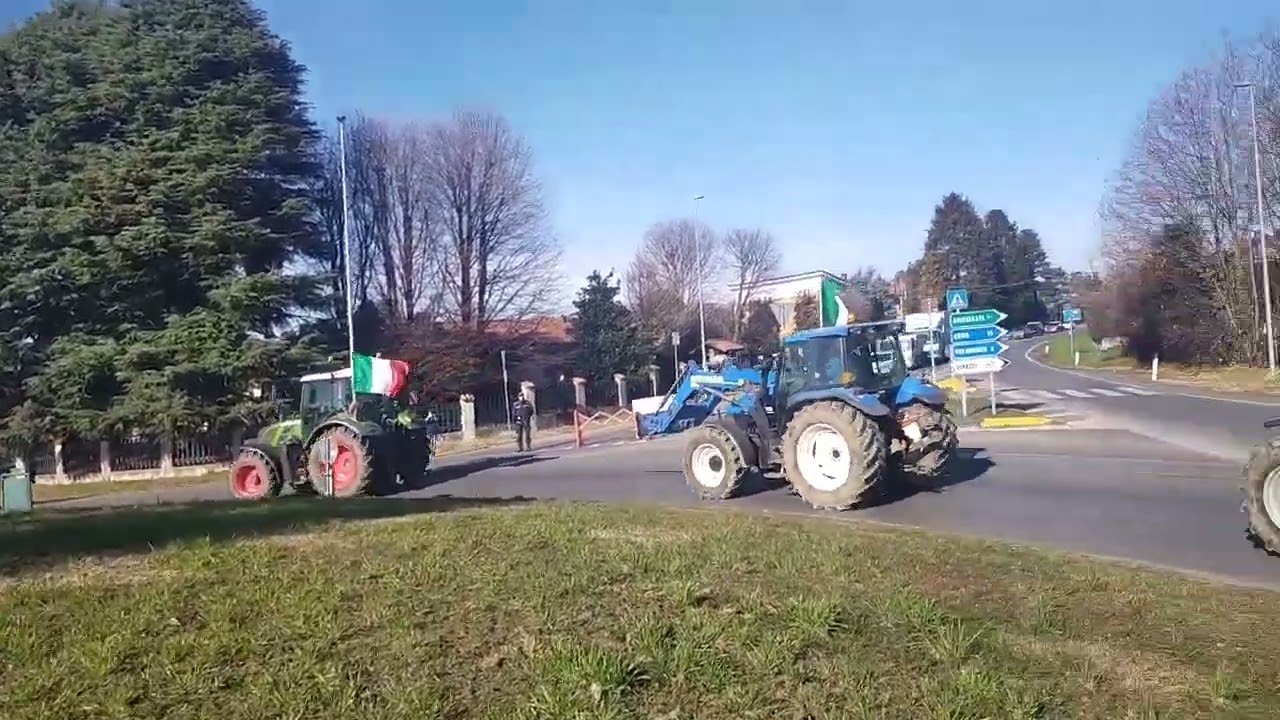
<path id="1" fill-rule="evenodd" d="M 849 510 L 867 500 L 886 460 L 884 434 L 845 402 L 806 405 L 782 436 L 787 482 L 819 510 Z"/>

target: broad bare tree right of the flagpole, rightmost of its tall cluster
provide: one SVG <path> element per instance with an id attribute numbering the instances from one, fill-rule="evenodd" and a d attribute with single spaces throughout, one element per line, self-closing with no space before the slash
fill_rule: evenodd
<path id="1" fill-rule="evenodd" d="M 499 318 L 545 311 L 559 287 L 532 155 L 499 115 L 460 111 L 431 131 L 428 161 L 444 242 L 438 277 L 445 311 L 484 329 Z"/>

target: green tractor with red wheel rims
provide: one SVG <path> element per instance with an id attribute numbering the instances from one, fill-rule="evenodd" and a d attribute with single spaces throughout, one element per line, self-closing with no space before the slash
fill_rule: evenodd
<path id="1" fill-rule="evenodd" d="M 416 486 L 435 452 L 433 415 L 419 420 L 399 398 L 352 397 L 351 368 L 300 378 L 297 418 L 262 428 L 232 465 L 232 495 L 243 500 L 297 493 L 352 497 Z M 403 393 L 402 393 L 403 395 Z"/>

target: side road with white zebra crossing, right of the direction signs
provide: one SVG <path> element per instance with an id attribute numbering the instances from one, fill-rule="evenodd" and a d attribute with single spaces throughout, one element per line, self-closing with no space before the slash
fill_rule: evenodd
<path id="1" fill-rule="evenodd" d="M 1009 366 L 998 375 L 997 398 L 1085 427 L 1125 428 L 1181 447 L 1244 462 L 1263 437 L 1262 421 L 1280 416 L 1280 398 L 1212 393 L 1108 372 L 1050 368 L 1038 360 L 1044 338 L 1010 343 Z"/>

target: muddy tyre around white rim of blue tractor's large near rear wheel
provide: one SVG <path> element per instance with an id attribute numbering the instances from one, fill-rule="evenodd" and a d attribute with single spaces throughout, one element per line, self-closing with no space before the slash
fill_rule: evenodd
<path id="1" fill-rule="evenodd" d="M 845 441 L 850 454 L 849 475 L 832 489 L 814 487 L 815 478 L 800 473 L 800 437 L 813 425 L 827 425 Z M 884 433 L 874 420 L 838 401 L 806 405 L 796 413 L 782 436 L 782 469 L 787 482 L 809 505 L 818 510 L 849 510 L 870 498 L 878 489 L 888 461 Z"/>

